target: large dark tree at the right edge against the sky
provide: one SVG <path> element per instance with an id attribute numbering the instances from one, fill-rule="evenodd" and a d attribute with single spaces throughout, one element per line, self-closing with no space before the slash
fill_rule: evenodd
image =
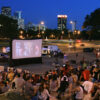
<path id="1" fill-rule="evenodd" d="M 100 8 L 85 17 L 82 27 L 86 29 L 88 39 L 100 39 Z"/>

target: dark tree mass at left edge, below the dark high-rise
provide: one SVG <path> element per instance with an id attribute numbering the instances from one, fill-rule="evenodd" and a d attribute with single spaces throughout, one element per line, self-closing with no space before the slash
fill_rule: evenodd
<path id="1" fill-rule="evenodd" d="M 1 38 L 17 38 L 18 25 L 17 20 L 0 15 L 0 37 Z"/>

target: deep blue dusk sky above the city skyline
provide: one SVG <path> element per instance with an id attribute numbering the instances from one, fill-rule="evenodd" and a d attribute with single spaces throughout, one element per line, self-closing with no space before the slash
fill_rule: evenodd
<path id="1" fill-rule="evenodd" d="M 100 0 L 0 0 L 2 6 L 10 6 L 12 15 L 22 11 L 25 23 L 44 21 L 48 28 L 57 28 L 57 15 L 66 14 L 68 28 L 71 29 L 70 21 L 76 20 L 76 28 L 81 29 L 85 16 L 100 8 Z"/>

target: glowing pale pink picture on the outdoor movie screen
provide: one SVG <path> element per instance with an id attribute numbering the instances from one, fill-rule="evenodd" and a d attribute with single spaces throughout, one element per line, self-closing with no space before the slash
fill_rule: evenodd
<path id="1" fill-rule="evenodd" d="M 13 40 L 12 59 L 41 57 L 42 40 Z"/>

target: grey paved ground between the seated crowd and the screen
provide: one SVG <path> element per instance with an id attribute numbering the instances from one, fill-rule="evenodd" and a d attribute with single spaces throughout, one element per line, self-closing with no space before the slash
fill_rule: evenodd
<path id="1" fill-rule="evenodd" d="M 85 61 L 94 61 L 96 56 L 93 53 L 78 53 L 78 57 L 76 57 L 76 53 L 68 53 L 68 60 L 76 60 L 76 63 L 79 64 L 80 61 L 85 59 Z M 28 64 L 28 65 L 21 65 L 16 66 L 15 68 L 22 68 L 24 70 L 29 70 L 35 74 L 43 74 L 46 71 L 53 70 L 55 68 L 54 62 L 55 58 L 51 58 L 48 56 L 44 56 L 42 58 L 42 64 Z M 58 58 L 58 63 L 62 66 L 63 65 L 63 58 Z M 7 63 L 0 63 L 0 65 L 8 66 Z"/>

